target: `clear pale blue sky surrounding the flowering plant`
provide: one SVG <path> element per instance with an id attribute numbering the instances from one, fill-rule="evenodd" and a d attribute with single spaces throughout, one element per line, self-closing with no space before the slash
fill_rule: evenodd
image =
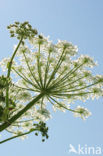
<path id="1" fill-rule="evenodd" d="M 54 42 L 61 39 L 78 45 L 80 54 L 98 61 L 94 72 L 103 74 L 102 0 L 0 0 L 0 59 L 11 55 L 17 43 L 6 29 L 14 21 L 29 21 Z M 80 104 L 92 112 L 86 121 L 74 118 L 71 112 L 53 113 L 48 121 L 50 137 L 45 143 L 41 136 L 30 134 L 25 141 L 16 139 L 0 145 L 0 155 L 74 156 L 69 154 L 69 144 L 103 149 L 103 98 Z"/>

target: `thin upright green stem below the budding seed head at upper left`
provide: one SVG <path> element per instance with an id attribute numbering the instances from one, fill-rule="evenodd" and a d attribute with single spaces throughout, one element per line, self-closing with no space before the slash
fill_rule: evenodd
<path id="1" fill-rule="evenodd" d="M 17 47 L 16 47 L 16 49 L 15 49 L 15 51 L 14 51 L 12 57 L 11 57 L 11 60 L 9 62 L 7 78 L 10 78 L 12 62 L 13 62 L 13 59 L 14 59 L 14 57 L 16 55 L 16 52 L 17 52 L 18 48 L 20 47 L 20 44 L 22 43 L 22 39 L 23 39 L 23 37 L 19 41 L 19 43 L 18 43 L 18 45 L 17 45 Z M 8 101 L 8 99 L 9 99 L 9 85 L 7 85 L 7 88 L 6 88 L 6 107 L 7 108 L 9 107 L 9 101 Z"/>

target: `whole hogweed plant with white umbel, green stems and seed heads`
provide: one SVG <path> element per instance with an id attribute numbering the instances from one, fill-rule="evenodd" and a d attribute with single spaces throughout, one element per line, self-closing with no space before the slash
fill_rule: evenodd
<path id="1" fill-rule="evenodd" d="M 75 117 L 86 119 L 87 108 L 72 103 L 83 103 L 103 95 L 103 76 L 93 75 L 90 68 L 96 63 L 87 55 L 77 55 L 78 49 L 67 41 L 52 43 L 38 34 L 28 22 L 15 22 L 7 27 L 11 37 L 19 42 L 11 57 L 4 58 L 0 67 L 0 132 L 13 134 L 0 143 L 35 132 L 48 138 L 46 121 L 54 111 L 70 111 Z"/>

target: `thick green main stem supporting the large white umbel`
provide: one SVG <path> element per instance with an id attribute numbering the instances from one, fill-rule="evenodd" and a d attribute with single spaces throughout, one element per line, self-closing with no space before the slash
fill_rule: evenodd
<path id="1" fill-rule="evenodd" d="M 22 110 L 20 110 L 16 115 L 14 115 L 7 122 L 0 125 L 0 132 L 9 127 L 14 121 L 16 121 L 19 117 L 21 117 L 27 110 L 29 110 L 36 102 L 38 102 L 45 93 L 39 94 L 36 98 L 34 98 L 31 102 L 29 102 Z"/>

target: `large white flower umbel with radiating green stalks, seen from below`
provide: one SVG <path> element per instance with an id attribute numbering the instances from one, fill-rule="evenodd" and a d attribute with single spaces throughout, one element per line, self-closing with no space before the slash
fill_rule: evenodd
<path id="1" fill-rule="evenodd" d="M 18 100 L 21 98 L 23 103 L 27 99 L 29 101 L 31 96 L 44 93 L 37 103 L 37 113 L 44 112 L 48 102 L 54 109 L 72 111 L 65 103 L 69 104 L 73 100 L 86 101 L 102 95 L 102 87 L 98 85 L 103 84 L 103 76 L 93 76 L 91 71 L 87 70 L 87 67 L 96 65 L 92 58 L 81 55 L 72 60 L 72 56 L 77 54 L 77 47 L 67 41 L 59 40 L 54 45 L 40 35 L 32 40 L 30 43 L 34 48 L 28 49 L 27 45 L 21 45 L 17 52 L 18 60 L 12 67 L 12 72 L 19 76 L 17 85 L 14 84 L 17 89 L 21 89 L 17 95 Z"/>

